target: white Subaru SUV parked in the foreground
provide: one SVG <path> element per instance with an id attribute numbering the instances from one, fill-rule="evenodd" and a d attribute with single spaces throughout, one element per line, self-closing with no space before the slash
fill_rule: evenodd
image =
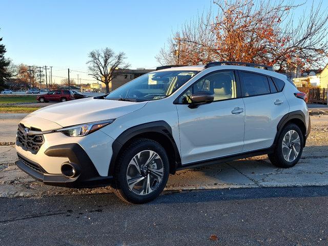
<path id="1" fill-rule="evenodd" d="M 111 184 L 126 201 L 147 202 L 181 169 L 260 154 L 293 167 L 310 133 L 305 98 L 263 65 L 160 67 L 26 116 L 16 165 L 48 185 Z"/>

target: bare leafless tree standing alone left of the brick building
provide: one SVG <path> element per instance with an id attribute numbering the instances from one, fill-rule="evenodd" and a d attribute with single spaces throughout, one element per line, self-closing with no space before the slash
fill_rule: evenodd
<path id="1" fill-rule="evenodd" d="M 130 67 L 130 64 L 125 63 L 126 55 L 124 52 L 116 54 L 110 48 L 93 50 L 88 57 L 90 59 L 87 64 L 92 77 L 106 85 L 107 93 L 112 79 Z"/>

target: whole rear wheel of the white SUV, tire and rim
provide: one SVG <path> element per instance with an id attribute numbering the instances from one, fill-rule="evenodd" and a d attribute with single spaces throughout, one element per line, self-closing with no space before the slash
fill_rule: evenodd
<path id="1" fill-rule="evenodd" d="M 268 156 L 273 165 L 279 168 L 291 168 L 301 158 L 303 146 L 301 130 L 297 125 L 290 124 L 281 131 L 274 153 Z"/>

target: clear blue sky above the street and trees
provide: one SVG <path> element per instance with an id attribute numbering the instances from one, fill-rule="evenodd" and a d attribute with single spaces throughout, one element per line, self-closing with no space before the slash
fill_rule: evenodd
<path id="1" fill-rule="evenodd" d="M 124 51 L 133 69 L 153 68 L 170 34 L 212 2 L 2 0 L 0 37 L 15 64 L 53 66 L 54 76 L 67 76 L 66 68 L 87 72 L 88 52 L 104 47 Z"/>

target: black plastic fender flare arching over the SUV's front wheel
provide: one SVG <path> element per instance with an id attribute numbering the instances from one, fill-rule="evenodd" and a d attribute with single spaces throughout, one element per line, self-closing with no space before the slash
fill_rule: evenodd
<path id="1" fill-rule="evenodd" d="M 178 147 L 175 143 L 175 140 L 173 138 L 172 134 L 172 128 L 171 126 L 164 120 L 159 120 L 159 121 L 153 121 L 153 122 L 148 122 L 145 124 L 140 124 L 134 127 L 131 127 L 124 132 L 122 132 L 113 142 L 112 144 L 112 158 L 110 161 L 110 165 L 108 168 L 108 175 L 111 176 L 114 174 L 114 167 L 115 167 L 115 162 L 117 160 L 118 154 L 122 147 L 133 137 L 143 134 L 143 133 L 159 133 L 162 136 L 166 137 L 167 140 L 169 140 L 170 144 L 173 147 L 174 150 L 174 167 L 172 167 L 172 163 L 170 163 L 170 169 L 173 168 L 173 170 L 170 170 L 170 173 L 174 173 L 178 163 L 181 162 L 180 158 L 180 153 L 178 150 Z"/>

